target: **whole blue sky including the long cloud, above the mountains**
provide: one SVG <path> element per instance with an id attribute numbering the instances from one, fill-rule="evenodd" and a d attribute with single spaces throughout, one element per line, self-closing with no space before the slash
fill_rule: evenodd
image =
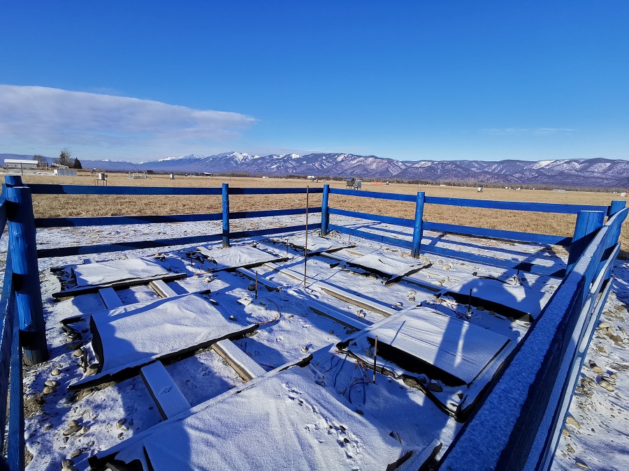
<path id="1" fill-rule="evenodd" d="M 629 159 L 626 1 L 12 3 L 0 152 Z"/>

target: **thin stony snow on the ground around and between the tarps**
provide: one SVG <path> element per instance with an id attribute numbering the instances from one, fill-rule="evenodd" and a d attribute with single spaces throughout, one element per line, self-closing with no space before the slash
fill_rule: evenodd
<path id="1" fill-rule="evenodd" d="M 317 223 L 311 218 L 311 223 Z M 358 227 L 354 218 L 334 218 L 334 223 L 350 224 Z M 281 225 L 293 225 L 295 218 L 265 218 L 251 221 L 234 220 L 231 230 L 257 229 Z M 364 222 L 363 222 L 364 226 Z M 388 237 L 410 240 L 411 230 L 392 225 L 371 225 L 361 227 Z M 139 241 L 171 237 L 196 236 L 220 232 L 219 223 L 175 223 L 171 225 L 128 225 L 113 227 L 71 227 L 38 231 L 38 246 L 106 244 L 117 241 Z M 347 243 L 348 237 L 334 234 L 334 237 Z M 280 238 L 281 239 L 281 238 Z M 168 283 L 177 294 L 212 291 L 211 297 L 218 305 L 226 306 L 238 313 L 238 320 L 257 323 L 260 327 L 252 334 L 243 336 L 234 343 L 256 361 L 266 371 L 291 361 L 298 361 L 307 354 L 314 354 L 311 365 L 323 377 L 326 387 L 338 394 L 338 401 L 366 419 L 373 419 L 379 433 L 391 435 L 403 444 L 421 449 L 435 438 L 444 443 L 444 450 L 460 430 L 452 417 L 440 410 L 425 394 L 412 383 L 377 375 L 377 384 L 366 380 L 373 371 L 360 371 L 356 361 L 335 354 L 340 341 L 352 334 L 345 327 L 328 317 L 310 311 L 308 300 L 315 299 L 329 308 L 353 317 L 360 322 L 372 324 L 382 320 L 383 311 L 403 311 L 405 308 L 422 303 L 463 318 L 467 308 L 451 299 L 435 302 L 434 289 L 451 287 L 469 279 L 476 272 L 479 276 L 491 276 L 503 281 L 516 273 L 513 270 L 487 267 L 475 262 L 461 262 L 447 257 L 428 254 L 431 267 L 419 270 L 408 278 L 385 285 L 384 278 L 324 255 L 308 258 L 306 287 L 303 287 L 303 257 L 301 252 L 287 247 L 281 241 L 263 237 L 256 238 L 257 248 L 279 257 L 288 255 L 289 260 L 277 267 L 256 267 L 259 276 L 282 286 L 279 292 L 260 288 L 255 299 L 250 288 L 251 281 L 238 272 L 221 271 L 211 273 L 210 262 L 190 259 L 187 256 L 190 246 L 175 246 L 159 250 L 164 255 L 164 264 L 173 271 L 187 273 L 187 278 Z M 6 238 L 2 240 L 6 251 Z M 352 237 L 352 257 L 368 253 L 388 253 L 412 262 L 408 251 L 386 246 L 373 241 Z M 424 243 L 448 248 L 462 248 L 470 253 L 484 255 L 499 254 L 512 260 L 539 262 L 554 271 L 558 266 L 558 255 L 548 249 L 540 250 L 533 246 L 516 246 L 484 239 L 446 236 L 426 232 Z M 250 246 L 252 240 L 234 241 L 234 244 Z M 199 245 L 199 244 L 196 244 Z M 219 244 L 211 245 L 215 248 Z M 134 255 L 150 257 L 155 249 L 133 251 Z M 565 253 L 559 254 L 565 257 Z M 124 253 L 103 253 L 89 255 L 95 260 L 123 259 Z M 32 455 L 30 470 L 58 470 L 64 459 L 72 458 L 78 469 L 87 468 L 87 457 L 106 450 L 133 435 L 147 431 L 163 419 L 140 376 L 128 377 L 116 383 L 106 383 L 99 387 L 77 392 L 67 390 L 67 385 L 75 382 L 83 373 L 79 366 L 80 358 L 68 350 L 68 338 L 62 330 L 60 320 L 71 315 L 91 313 L 104 309 L 99 294 L 84 294 L 78 297 L 55 301 L 52 292 L 59 290 L 59 281 L 50 273 L 51 267 L 81 263 L 85 257 L 65 257 L 64 259 L 40 260 L 41 288 L 46 315 L 47 338 L 50 360 L 32 368 L 25 368 L 25 406 L 27 409 L 27 447 Z M 629 405 L 626 391 L 629 391 L 629 353 L 626 350 L 627 336 L 623 329 L 629 328 L 629 264 L 617 263 L 615 267 L 614 291 L 607 303 L 603 320 L 612 331 L 600 329 L 588 352 L 588 360 L 602 368 L 602 376 L 616 382 L 614 392 L 599 386 L 588 386 L 587 390 L 577 391 L 570 413 L 579 426 L 568 424 L 570 436 L 564 436 L 559 445 L 556 463 L 558 469 L 573 469 L 581 460 L 591 468 L 629 469 Z M 526 282 L 539 282 L 549 290 L 554 290 L 558 281 L 548 276 L 521 274 Z M 419 283 L 419 284 L 418 284 Z M 353 296 L 362 297 L 375 309 L 361 308 L 330 294 L 330 287 L 342 288 Z M 432 288 L 432 289 L 431 289 Z M 328 289 L 328 291 L 326 291 Z M 118 290 L 118 296 L 125 305 L 151 301 L 157 298 L 149 287 L 136 286 Z M 527 322 L 509 322 L 493 311 L 472 309 L 470 322 L 491 329 L 497 333 L 521 338 L 528 329 Z M 612 334 L 613 332 L 613 334 Z M 217 353 L 203 349 L 183 358 L 166 362 L 166 370 L 175 384 L 181 389 L 193 408 L 205 401 L 226 394 L 234 387 L 240 387 L 243 380 Z M 616 378 L 612 377 L 616 374 Z M 584 366 L 584 375 L 600 380 L 591 366 Z M 59 387 L 50 394 L 43 394 L 44 382 L 58 381 Z M 64 435 L 71 420 L 82 428 L 79 433 Z M 220 431 L 215 431 L 221 433 Z M 276 433 L 281 431 L 270 431 Z M 570 451 L 570 450 L 574 451 Z M 624 454 L 624 456 L 623 456 Z"/>

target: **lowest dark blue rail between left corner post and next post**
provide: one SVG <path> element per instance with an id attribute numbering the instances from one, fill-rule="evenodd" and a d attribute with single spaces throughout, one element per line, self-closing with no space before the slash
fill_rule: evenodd
<path id="1" fill-rule="evenodd" d="M 215 242 L 222 239 L 221 234 L 208 234 L 191 237 L 177 237 L 175 239 L 157 239 L 152 241 L 116 242 L 115 244 L 97 244 L 93 246 L 71 246 L 59 248 L 41 248 L 37 251 L 38 258 L 68 257 L 70 255 L 88 255 L 90 253 L 109 253 L 121 251 L 136 251 L 140 248 L 157 248 L 183 246 L 187 244 L 201 244 Z"/>

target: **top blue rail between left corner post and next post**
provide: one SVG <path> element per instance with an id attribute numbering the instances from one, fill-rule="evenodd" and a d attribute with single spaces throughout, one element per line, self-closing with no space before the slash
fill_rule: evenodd
<path id="1" fill-rule="evenodd" d="M 221 188 L 29 184 L 33 195 L 220 195 Z"/>

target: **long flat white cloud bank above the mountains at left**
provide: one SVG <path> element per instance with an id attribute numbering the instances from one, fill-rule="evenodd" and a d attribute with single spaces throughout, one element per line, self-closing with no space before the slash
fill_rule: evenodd
<path id="1" fill-rule="evenodd" d="M 13 146 L 166 150 L 233 139 L 256 121 L 153 100 L 2 84 L 0 110 L 0 138 Z"/>

